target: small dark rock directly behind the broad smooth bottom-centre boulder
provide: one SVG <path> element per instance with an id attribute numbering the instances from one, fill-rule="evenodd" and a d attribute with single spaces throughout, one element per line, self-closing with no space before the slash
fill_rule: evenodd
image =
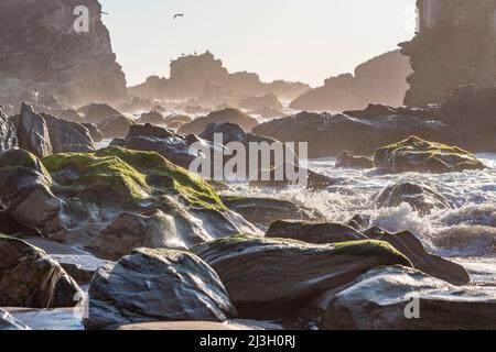
<path id="1" fill-rule="evenodd" d="M 292 239 L 314 244 L 367 240 L 366 235 L 341 223 L 281 220 L 270 226 L 266 238 Z"/>

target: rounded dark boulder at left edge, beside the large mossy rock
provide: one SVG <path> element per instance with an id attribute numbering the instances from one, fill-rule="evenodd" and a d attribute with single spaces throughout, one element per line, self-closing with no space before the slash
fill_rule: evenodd
<path id="1" fill-rule="evenodd" d="M 0 152 L 0 209 L 18 223 L 46 235 L 62 229 L 62 202 L 51 187 L 50 174 L 33 154 Z"/>

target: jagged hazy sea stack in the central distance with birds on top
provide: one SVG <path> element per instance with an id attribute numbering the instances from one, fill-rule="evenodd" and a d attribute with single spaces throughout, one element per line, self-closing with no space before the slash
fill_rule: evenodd
<path id="1" fill-rule="evenodd" d="M 151 76 L 143 84 L 129 88 L 129 91 L 138 97 L 158 99 L 198 98 L 206 94 L 207 97 L 202 100 L 207 100 L 213 99 L 213 87 L 223 92 L 222 96 L 230 96 L 227 98 L 235 98 L 238 101 L 244 96 L 267 94 L 274 94 L 281 99 L 294 99 L 310 89 L 310 86 L 301 82 L 277 80 L 266 84 L 257 74 L 247 72 L 229 74 L 220 59 L 206 52 L 172 61 L 170 78 Z"/>

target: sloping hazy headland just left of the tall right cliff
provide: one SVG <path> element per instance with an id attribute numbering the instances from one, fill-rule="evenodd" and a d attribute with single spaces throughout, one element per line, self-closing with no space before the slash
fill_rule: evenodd
<path id="1" fill-rule="evenodd" d="M 411 73 L 407 57 L 399 51 L 377 56 L 355 69 L 325 80 L 323 87 L 304 92 L 291 108 L 308 111 L 343 111 L 363 109 L 368 103 L 393 107 L 402 105 Z"/>

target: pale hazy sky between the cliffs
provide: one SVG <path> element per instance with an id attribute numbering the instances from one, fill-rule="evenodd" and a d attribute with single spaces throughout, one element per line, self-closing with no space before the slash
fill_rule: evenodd
<path id="1" fill-rule="evenodd" d="M 171 58 L 209 50 L 229 72 L 319 86 L 411 38 L 416 0 L 100 2 L 129 85 L 169 77 Z"/>

